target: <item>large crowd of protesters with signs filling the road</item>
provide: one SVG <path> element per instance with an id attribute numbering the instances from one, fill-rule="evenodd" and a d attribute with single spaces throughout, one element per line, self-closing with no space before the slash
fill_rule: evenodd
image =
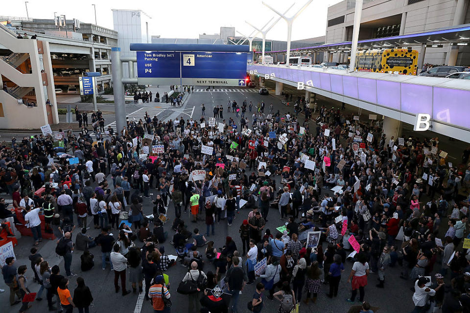
<path id="1" fill-rule="evenodd" d="M 258 109 L 252 121 L 248 116 L 223 119 L 215 111 L 215 122 L 204 116 L 161 121 L 145 113 L 118 133 L 104 132 L 95 114 L 95 138 L 88 125 L 79 134 L 62 133 L 59 147 L 51 135 L 13 138 L 11 147 L 0 151 L 0 187 L 30 226 L 34 246 L 42 242 L 42 223 L 57 237 L 56 253 L 64 258 L 68 277 L 75 276 L 74 249 L 84 250 L 82 271 L 93 267 L 92 249 L 100 250 L 103 270 L 109 263 L 115 273 L 116 292 L 131 292 L 129 280 L 132 291 L 144 292 L 156 312 L 170 311 L 164 272 L 173 264 L 188 267 L 182 283 L 197 282 L 198 290 L 188 294 L 188 312 L 227 312 L 229 307 L 242 312 L 239 294 L 255 285 L 248 291 L 253 312 L 260 312 L 266 299 L 277 299 L 279 312 L 290 313 L 302 300 L 311 309 L 319 296 L 336 297 L 347 259 L 353 266 L 346 301 L 359 301 L 363 312 L 379 304 L 367 298 L 366 289 L 388 288 L 393 266 L 401 267 L 403 284 L 414 291 L 414 312 L 434 307 L 469 312 L 470 254 L 463 246 L 470 238 L 470 149 L 461 162 L 449 164 L 438 138 L 387 139 L 376 133 L 376 122 L 359 122 L 324 106 L 313 114 L 313 128 L 312 110 L 302 104 L 304 122 L 298 112 L 272 109 L 269 115 Z M 74 157 L 78 162 L 70 161 Z M 205 174 L 195 178 L 194 170 Z M 44 191 L 35 193 L 44 184 Z M 158 194 L 151 199 L 153 214 L 146 215 L 143 205 L 153 189 Z M 189 212 L 188 220 L 182 211 Z M 0 218 L 9 216 L 16 219 L 0 201 Z M 87 235 L 88 216 L 100 230 L 95 238 Z M 268 216 L 286 223 L 285 231 L 267 229 Z M 129 224 L 119 224 L 124 218 Z M 197 229 L 198 221 L 205 232 Z M 235 223 L 240 240 L 227 236 L 225 245 L 214 246 L 220 223 Z M 75 226 L 80 234 L 73 245 Z M 111 235 L 115 227 L 118 235 Z M 309 246 L 312 231 L 321 235 L 318 245 Z M 52 298 L 57 295 L 66 312 L 73 307 L 88 312 L 93 297 L 83 278 L 77 279 L 77 304 L 77 289 L 72 298 L 59 267 L 49 269 L 33 249 L 34 280 L 47 290 L 49 310 L 56 309 Z M 176 262 L 170 254 L 177 255 Z M 264 258 L 266 268 L 256 272 Z M 19 302 L 15 295 L 22 299 L 30 292 L 26 267 L 16 268 L 9 260 L 2 268 L 11 305 Z M 371 275 L 378 279 L 376 287 L 367 286 Z M 323 284 L 329 284 L 326 295 L 320 295 Z M 222 296 L 224 305 L 211 293 L 215 285 L 230 295 Z M 20 312 L 27 308 L 23 303 Z"/>

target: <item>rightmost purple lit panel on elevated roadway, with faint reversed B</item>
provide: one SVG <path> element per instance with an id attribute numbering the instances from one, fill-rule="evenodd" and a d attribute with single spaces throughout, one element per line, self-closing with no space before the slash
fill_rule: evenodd
<path id="1" fill-rule="evenodd" d="M 470 113 L 465 108 L 469 99 L 469 90 L 434 87 L 432 118 L 470 128 Z"/>

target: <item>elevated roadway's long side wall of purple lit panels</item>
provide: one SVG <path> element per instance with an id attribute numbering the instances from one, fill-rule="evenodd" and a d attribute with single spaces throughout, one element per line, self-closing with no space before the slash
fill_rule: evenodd
<path id="1" fill-rule="evenodd" d="M 468 80 L 286 65 L 249 64 L 247 71 L 409 124 L 427 113 L 430 130 L 470 142 Z"/>

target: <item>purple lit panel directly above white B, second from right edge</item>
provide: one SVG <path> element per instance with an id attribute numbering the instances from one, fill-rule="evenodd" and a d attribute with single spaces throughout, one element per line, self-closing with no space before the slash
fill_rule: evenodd
<path id="1" fill-rule="evenodd" d="M 431 114 L 432 87 L 401 83 L 401 111 Z"/>

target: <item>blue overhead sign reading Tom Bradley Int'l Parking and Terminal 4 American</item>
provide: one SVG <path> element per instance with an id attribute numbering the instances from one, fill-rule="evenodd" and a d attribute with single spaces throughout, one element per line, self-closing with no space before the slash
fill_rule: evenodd
<path id="1" fill-rule="evenodd" d="M 137 51 L 139 84 L 245 86 L 247 53 Z"/>

